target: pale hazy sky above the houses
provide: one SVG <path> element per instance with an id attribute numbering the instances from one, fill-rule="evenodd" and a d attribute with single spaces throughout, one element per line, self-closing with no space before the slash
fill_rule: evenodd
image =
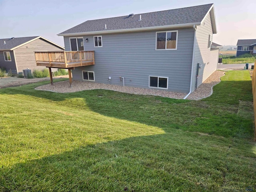
<path id="1" fill-rule="evenodd" d="M 0 0 L 0 38 L 42 36 L 61 46 L 56 34 L 86 20 L 214 3 L 213 42 L 236 45 L 256 39 L 255 0 Z"/>

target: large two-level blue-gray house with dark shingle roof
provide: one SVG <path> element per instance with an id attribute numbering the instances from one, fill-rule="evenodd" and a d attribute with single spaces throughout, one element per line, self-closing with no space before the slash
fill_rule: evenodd
<path id="1" fill-rule="evenodd" d="M 74 67 L 74 80 L 190 93 L 217 68 L 216 33 L 214 5 L 206 4 L 88 20 L 58 36 L 66 51 L 95 56 Z"/>

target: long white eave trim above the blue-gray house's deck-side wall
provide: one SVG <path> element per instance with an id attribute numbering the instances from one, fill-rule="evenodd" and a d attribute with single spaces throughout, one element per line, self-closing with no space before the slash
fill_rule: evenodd
<path id="1" fill-rule="evenodd" d="M 136 32 L 136 31 L 158 30 L 158 29 L 168 29 L 168 28 L 185 28 L 185 27 L 193 27 L 194 25 L 200 25 L 200 24 L 201 23 L 186 23 L 186 24 L 176 24 L 176 25 L 164 25 L 164 26 L 154 26 L 154 27 L 133 28 L 133 29 L 118 29 L 118 30 L 108 30 L 108 31 L 66 33 L 66 34 L 57 34 L 57 35 L 58 36 L 77 36 L 77 35 Z"/>

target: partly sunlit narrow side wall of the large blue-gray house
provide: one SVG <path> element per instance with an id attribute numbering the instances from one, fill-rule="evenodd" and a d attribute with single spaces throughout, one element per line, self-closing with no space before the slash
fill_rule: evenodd
<path id="1" fill-rule="evenodd" d="M 192 79 L 192 92 L 196 89 L 197 64 L 201 65 L 198 73 L 198 84 L 202 84 L 216 69 L 218 64 L 219 49 L 208 48 L 208 38 L 211 35 L 212 42 L 212 22 L 210 13 L 206 16 L 200 26 L 196 27 L 196 45 L 194 56 L 194 70 Z"/>

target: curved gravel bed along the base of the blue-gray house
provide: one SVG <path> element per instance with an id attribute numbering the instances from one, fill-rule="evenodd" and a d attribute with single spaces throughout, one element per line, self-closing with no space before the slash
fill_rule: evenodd
<path id="1" fill-rule="evenodd" d="M 196 91 L 194 91 L 188 99 L 199 99 L 210 96 L 212 86 L 217 84 L 220 81 L 220 77 L 224 75 L 223 71 L 214 72 L 203 84 L 201 84 Z M 36 90 L 45 90 L 52 91 L 58 93 L 67 93 L 67 92 L 77 92 L 83 90 L 93 90 L 93 89 L 106 89 L 106 90 L 114 90 L 118 92 L 125 92 L 130 94 L 147 94 L 147 95 L 156 95 L 174 99 L 183 99 L 186 96 L 186 93 L 178 93 L 178 92 L 169 92 L 165 90 L 151 90 L 144 88 L 136 88 L 136 87 L 126 87 L 119 85 L 110 85 L 110 84 L 102 84 L 102 83 L 94 83 L 87 81 L 76 81 L 72 82 L 72 87 L 69 86 L 69 81 L 61 81 L 56 82 L 52 86 L 51 84 L 46 84 L 43 86 L 39 86 L 35 88 Z"/>

